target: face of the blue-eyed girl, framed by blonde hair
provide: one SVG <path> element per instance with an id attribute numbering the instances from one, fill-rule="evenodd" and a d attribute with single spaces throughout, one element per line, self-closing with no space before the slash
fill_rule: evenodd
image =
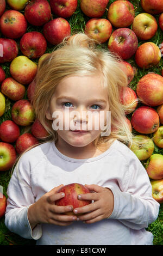
<path id="1" fill-rule="evenodd" d="M 67 76 L 52 95 L 46 117 L 53 120 L 53 129 L 58 129 L 58 139 L 84 147 L 103 131 L 107 111 L 108 93 L 100 76 Z"/>

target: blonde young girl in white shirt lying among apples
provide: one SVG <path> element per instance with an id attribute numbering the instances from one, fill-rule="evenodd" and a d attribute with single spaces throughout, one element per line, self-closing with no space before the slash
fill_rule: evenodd
<path id="1" fill-rule="evenodd" d="M 5 225 L 36 245 L 152 245 L 146 228 L 156 220 L 159 203 L 129 148 L 132 134 L 119 101 L 127 86 L 120 58 L 79 33 L 42 60 L 34 82 L 32 103 L 49 136 L 16 164 Z M 107 125 L 96 129 L 101 113 Z M 79 200 L 92 203 L 76 209 L 55 205 L 65 196 L 58 189 L 73 182 L 89 188 Z"/>

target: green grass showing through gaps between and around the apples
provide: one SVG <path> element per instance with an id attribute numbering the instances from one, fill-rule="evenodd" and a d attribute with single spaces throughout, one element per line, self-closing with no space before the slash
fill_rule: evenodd
<path id="1" fill-rule="evenodd" d="M 49 0 L 48 0 L 48 2 L 49 2 Z M 109 5 L 112 2 L 115 2 L 115 0 L 110 0 L 107 8 L 109 7 Z M 145 12 L 141 8 L 140 0 L 133 0 L 133 1 L 131 0 L 130 2 L 133 3 L 134 7 L 136 8 L 135 16 L 140 13 Z M 7 5 L 7 9 L 9 9 L 8 5 Z M 22 10 L 21 13 L 24 13 L 24 10 Z M 55 17 L 57 17 L 57 16 L 53 15 L 53 19 L 55 19 Z M 157 21 L 158 21 L 158 17 L 159 17 L 159 15 L 155 15 L 155 18 Z M 103 15 L 103 18 L 107 19 L 107 10 L 105 10 L 105 14 Z M 88 20 L 90 20 L 90 18 L 85 16 L 82 13 L 82 11 L 80 10 L 79 1 L 78 1 L 77 10 L 70 18 L 67 19 L 67 21 L 70 22 L 71 34 L 76 33 L 76 32 L 84 32 L 85 23 Z M 31 26 L 28 24 L 27 32 L 39 31 L 42 33 L 42 30 L 43 30 L 42 27 L 34 27 L 34 26 Z M 19 44 L 19 41 L 20 41 L 20 39 L 16 40 L 17 44 Z M 158 27 L 158 31 L 156 32 L 156 34 L 149 41 L 154 42 L 158 46 L 159 46 L 159 44 L 161 44 L 161 42 L 163 41 L 163 33 L 161 32 L 161 29 L 159 27 Z M 139 40 L 139 46 L 141 44 L 143 44 L 144 42 L 146 42 L 146 41 Z M 106 42 L 102 45 L 98 45 L 97 47 L 107 49 L 107 45 L 108 45 L 108 42 Z M 46 53 L 52 52 L 53 49 L 54 49 L 54 46 L 48 43 Z M 18 55 L 22 55 L 20 49 L 19 49 Z M 34 59 L 33 61 L 35 63 L 37 63 L 38 59 Z M 142 76 L 148 74 L 148 72 L 155 72 L 156 74 L 161 75 L 161 69 L 163 68 L 162 58 L 160 60 L 160 63 L 157 66 L 154 66 L 153 68 L 148 69 L 148 70 L 143 70 L 143 69 L 140 69 L 139 67 L 137 67 L 135 60 L 134 60 L 134 56 L 127 61 L 132 66 L 135 66 L 135 68 L 137 69 L 136 76 L 134 77 L 133 81 L 131 81 L 131 83 L 129 84 L 129 87 L 131 87 L 133 90 L 136 90 L 137 82 L 139 82 L 139 80 Z M 10 63 L 5 63 L 5 64 L 2 64 L 1 66 L 5 70 L 7 77 L 9 77 L 10 76 L 10 72 L 9 72 Z M 27 99 L 27 92 L 26 92 L 26 95 L 24 96 L 24 99 Z M 0 124 L 4 120 L 11 119 L 11 107 L 13 104 L 14 104 L 14 101 L 7 99 L 5 113 L 4 113 L 4 115 L 2 115 L 2 117 L 0 117 Z M 139 107 L 140 105 L 141 105 L 141 103 L 139 103 L 139 105 L 137 107 Z M 131 118 L 131 114 L 128 115 L 128 118 L 129 119 Z M 21 133 L 23 133 L 24 130 L 26 130 L 26 129 L 27 130 L 30 129 L 30 127 L 24 127 L 24 128 L 20 127 L 20 128 L 21 128 Z M 138 134 L 136 131 L 133 131 L 133 133 L 135 135 Z M 152 137 L 152 134 L 148 135 L 148 136 Z M 156 145 L 155 145 L 153 154 L 156 154 L 156 153 L 163 154 L 163 149 L 160 149 L 160 148 L 156 147 Z M 143 164 L 143 161 L 142 161 L 142 164 Z M 11 170 L 8 170 L 6 172 L 1 172 L 1 174 L 0 174 L 0 185 L 3 186 L 5 196 L 7 196 L 6 192 L 7 192 L 7 186 L 8 186 L 10 177 L 11 177 Z M 154 236 L 154 240 L 153 240 L 154 245 L 163 245 L 163 204 L 160 205 L 158 218 L 156 219 L 155 222 L 153 222 L 152 224 L 149 224 L 149 227 L 147 228 L 147 230 L 151 231 Z M 22 237 L 18 236 L 17 234 L 11 233 L 7 229 L 7 227 L 5 227 L 4 217 L 2 217 L 0 220 L 0 245 L 9 245 L 10 243 L 12 243 L 13 245 L 35 245 L 34 240 L 23 239 Z"/>

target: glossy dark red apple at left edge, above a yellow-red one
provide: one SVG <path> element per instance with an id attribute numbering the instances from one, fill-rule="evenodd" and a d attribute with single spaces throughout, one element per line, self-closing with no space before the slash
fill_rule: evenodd
<path id="1" fill-rule="evenodd" d="M 0 138 L 3 142 L 13 143 L 20 136 L 20 128 L 11 120 L 5 120 L 0 125 Z"/>

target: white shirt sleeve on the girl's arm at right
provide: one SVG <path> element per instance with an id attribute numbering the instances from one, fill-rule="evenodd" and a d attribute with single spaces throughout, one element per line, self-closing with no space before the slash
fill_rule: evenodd
<path id="1" fill-rule="evenodd" d="M 149 176 L 135 155 L 130 158 L 126 172 L 128 182 L 124 191 L 109 186 L 114 194 L 114 210 L 109 218 L 131 229 L 147 228 L 158 217 L 160 204 L 152 197 Z"/>

